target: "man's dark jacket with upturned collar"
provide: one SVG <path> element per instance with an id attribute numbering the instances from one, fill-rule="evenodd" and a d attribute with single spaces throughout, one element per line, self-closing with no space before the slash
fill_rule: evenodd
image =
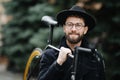
<path id="1" fill-rule="evenodd" d="M 60 47 L 67 47 L 65 38 L 62 39 Z M 81 47 L 89 48 L 86 39 L 83 39 Z M 76 80 L 105 80 L 103 59 L 97 52 L 93 54 L 79 55 Z M 47 49 L 41 56 L 40 73 L 38 80 L 72 80 L 73 59 L 68 57 L 67 61 L 60 66 L 56 63 L 58 52 Z"/>

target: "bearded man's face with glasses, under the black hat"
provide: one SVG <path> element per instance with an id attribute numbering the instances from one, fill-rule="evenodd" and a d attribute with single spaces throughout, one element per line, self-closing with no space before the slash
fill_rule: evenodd
<path id="1" fill-rule="evenodd" d="M 88 27 L 85 26 L 84 19 L 75 16 L 71 16 L 66 19 L 63 29 L 66 39 L 71 44 L 79 43 L 88 31 Z"/>

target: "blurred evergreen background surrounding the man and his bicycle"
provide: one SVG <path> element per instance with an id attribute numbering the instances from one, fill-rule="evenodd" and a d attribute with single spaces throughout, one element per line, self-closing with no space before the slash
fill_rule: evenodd
<path id="1" fill-rule="evenodd" d="M 49 27 L 41 18 L 75 4 L 96 17 L 88 39 L 105 59 L 107 80 L 120 79 L 120 0 L 0 0 L 0 80 L 23 80 L 33 49 L 47 45 Z M 53 45 L 62 35 L 55 27 Z"/>

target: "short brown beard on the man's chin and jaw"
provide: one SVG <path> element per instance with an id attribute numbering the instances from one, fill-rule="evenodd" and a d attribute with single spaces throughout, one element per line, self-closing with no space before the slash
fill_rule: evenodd
<path id="1" fill-rule="evenodd" d="M 83 39 L 83 36 L 84 36 L 84 35 L 81 35 L 81 36 L 80 36 L 80 35 L 78 34 L 78 38 L 72 39 L 72 38 L 70 38 L 69 35 L 70 35 L 70 34 L 68 34 L 68 35 L 65 34 L 65 37 L 66 37 L 66 39 L 68 40 L 68 42 L 71 43 L 71 44 L 77 44 L 77 43 L 79 43 L 79 42 Z"/>

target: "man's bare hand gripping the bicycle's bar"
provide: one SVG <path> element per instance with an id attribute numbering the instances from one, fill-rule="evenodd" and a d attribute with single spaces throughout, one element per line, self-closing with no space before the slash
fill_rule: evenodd
<path id="1" fill-rule="evenodd" d="M 65 47 L 61 47 L 57 58 L 57 63 L 62 65 L 67 60 L 68 54 L 72 54 L 71 50 Z"/>

